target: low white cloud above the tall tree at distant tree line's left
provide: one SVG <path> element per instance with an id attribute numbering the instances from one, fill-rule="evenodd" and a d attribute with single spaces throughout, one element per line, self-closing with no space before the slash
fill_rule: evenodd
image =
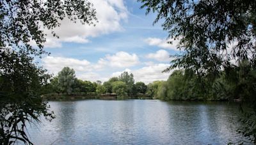
<path id="1" fill-rule="evenodd" d="M 92 71 L 87 60 L 70 59 L 65 57 L 45 57 L 42 59 L 45 69 L 58 74 L 63 67 L 71 67 L 75 71 Z"/>

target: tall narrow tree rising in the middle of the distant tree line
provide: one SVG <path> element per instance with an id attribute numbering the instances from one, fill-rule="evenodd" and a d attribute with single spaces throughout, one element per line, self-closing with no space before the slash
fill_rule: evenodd
<path id="1" fill-rule="evenodd" d="M 127 85 L 127 93 L 129 96 L 132 95 L 132 85 L 134 85 L 133 74 L 129 74 L 127 71 L 123 72 L 119 76 L 119 80 L 123 81 Z"/>

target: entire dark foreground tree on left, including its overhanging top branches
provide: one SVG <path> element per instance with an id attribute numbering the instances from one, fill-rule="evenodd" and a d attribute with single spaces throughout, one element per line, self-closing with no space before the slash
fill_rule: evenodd
<path id="1" fill-rule="evenodd" d="M 56 36 L 54 27 L 66 17 L 89 25 L 97 21 L 87 0 L 0 1 L 0 144 L 33 144 L 26 134 L 26 123 L 39 121 L 42 114 L 53 118 L 40 97 L 49 75 L 34 58 L 47 54 L 44 30 Z"/>

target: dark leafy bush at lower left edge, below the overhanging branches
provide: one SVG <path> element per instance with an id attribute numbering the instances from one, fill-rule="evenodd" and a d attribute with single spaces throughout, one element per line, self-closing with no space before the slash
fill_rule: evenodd
<path id="1" fill-rule="evenodd" d="M 26 55 L 10 51 L 0 59 L 0 143 L 32 144 L 25 133 L 26 123 L 39 121 L 40 115 L 54 118 L 41 97 L 41 88 L 50 76 Z"/>

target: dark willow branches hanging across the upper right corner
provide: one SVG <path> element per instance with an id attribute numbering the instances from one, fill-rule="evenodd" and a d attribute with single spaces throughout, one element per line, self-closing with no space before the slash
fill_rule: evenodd
<path id="1" fill-rule="evenodd" d="M 202 80 L 207 90 L 209 83 L 224 70 L 227 76 L 248 61 L 256 68 L 256 1 L 247 0 L 138 0 L 141 8 L 157 13 L 154 24 L 163 20 L 168 38 L 178 40 L 181 52 L 174 55 L 170 69 L 189 69 Z M 172 43 L 172 41 L 170 41 Z M 207 79 L 204 79 L 207 78 Z M 251 79 L 252 80 L 252 79 Z M 255 79 L 254 79 L 255 80 Z M 248 81 L 250 100 L 256 114 L 255 81 Z M 207 91 L 205 91 L 207 92 Z M 241 94 L 243 95 L 243 94 Z M 254 122 L 255 125 L 255 122 Z M 255 125 L 256 126 L 256 125 Z M 253 135 L 256 129 L 246 133 Z"/>

